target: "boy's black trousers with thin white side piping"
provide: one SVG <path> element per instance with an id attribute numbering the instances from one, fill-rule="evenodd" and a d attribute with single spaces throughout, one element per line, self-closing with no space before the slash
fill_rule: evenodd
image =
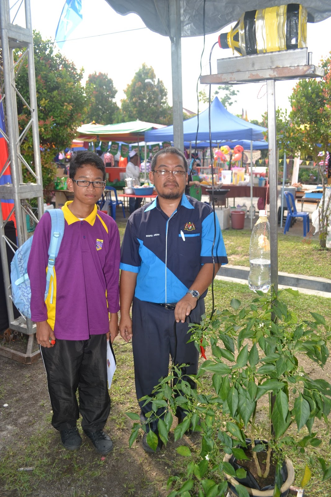
<path id="1" fill-rule="evenodd" d="M 40 346 L 40 351 L 54 428 L 61 431 L 76 426 L 81 413 L 83 430 L 102 429 L 110 412 L 106 335 L 91 335 L 88 340 L 56 340 L 54 347 Z"/>

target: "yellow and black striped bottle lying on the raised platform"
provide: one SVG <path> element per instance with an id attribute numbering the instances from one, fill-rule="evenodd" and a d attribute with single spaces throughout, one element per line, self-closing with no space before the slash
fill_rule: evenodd
<path id="1" fill-rule="evenodd" d="M 240 55 L 306 47 L 307 10 L 299 3 L 250 10 L 229 33 L 219 35 L 218 44 Z"/>

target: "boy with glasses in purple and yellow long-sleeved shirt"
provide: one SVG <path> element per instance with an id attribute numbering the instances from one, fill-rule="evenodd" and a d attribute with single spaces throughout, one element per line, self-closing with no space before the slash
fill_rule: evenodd
<path id="1" fill-rule="evenodd" d="M 82 444 L 77 419 L 95 449 L 113 447 L 103 427 L 110 412 L 106 338 L 118 334 L 120 243 L 115 221 L 97 210 L 105 168 L 93 152 L 77 152 L 70 162 L 68 190 L 74 200 L 62 207 L 65 230 L 55 261 L 53 302 L 45 301 L 51 219 L 40 219 L 31 247 L 28 274 L 31 319 L 44 361 L 53 409 L 52 425 L 63 445 Z M 79 404 L 76 391 L 79 391 Z"/>

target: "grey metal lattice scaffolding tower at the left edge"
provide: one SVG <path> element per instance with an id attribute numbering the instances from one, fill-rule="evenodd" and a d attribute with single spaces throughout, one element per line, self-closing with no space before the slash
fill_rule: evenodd
<path id="1" fill-rule="evenodd" d="M 30 0 L 24 0 L 18 4 L 16 11 L 9 6 L 9 0 L 0 0 L 0 46 L 2 52 L 2 67 L 0 66 L 0 101 L 2 101 L 6 118 L 6 132 L 1 132 L 8 145 L 9 156 L 7 162 L 0 169 L 0 177 L 8 165 L 11 168 L 12 183 L 0 185 L 0 199 L 13 199 L 14 207 L 8 217 L 3 219 L 0 209 L 0 253 L 4 276 L 6 294 L 6 307 L 9 319 L 9 328 L 28 335 L 27 350 L 21 352 L 0 346 L 0 355 L 10 357 L 19 362 L 34 362 L 40 352 L 33 352 L 35 326 L 31 320 L 22 316 L 14 319 L 13 305 L 10 292 L 10 278 L 8 272 L 8 260 L 6 247 L 12 251 L 16 246 L 5 236 L 5 225 L 12 212 L 15 213 L 17 241 L 21 246 L 28 238 L 26 226 L 26 214 L 36 222 L 43 214 L 43 185 L 41 176 L 41 161 L 39 149 L 38 113 L 36 82 L 33 58 L 33 36 L 30 14 Z M 25 18 L 23 15 L 25 14 Z M 15 24 L 16 18 L 23 18 L 24 26 Z M 16 21 L 17 22 L 17 21 Z M 15 49 L 19 49 L 15 53 Z M 15 80 L 22 65 L 28 68 L 29 98 L 23 98 L 16 88 Z M 17 100 L 21 99 L 25 107 L 30 111 L 30 119 L 24 129 L 19 130 L 17 117 Z M 32 133 L 34 166 L 28 164 L 21 152 L 21 144 L 28 133 Z M 26 167 L 35 178 L 35 182 L 23 182 L 22 168 Z M 37 198 L 38 218 L 33 214 L 26 199 Z"/>

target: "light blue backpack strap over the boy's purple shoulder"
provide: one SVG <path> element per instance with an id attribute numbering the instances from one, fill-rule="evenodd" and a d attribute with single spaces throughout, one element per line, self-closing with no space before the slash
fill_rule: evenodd
<path id="1" fill-rule="evenodd" d="M 47 212 L 51 216 L 51 222 L 52 222 L 51 240 L 48 248 L 48 264 L 47 264 L 47 276 L 46 276 L 46 291 L 48 292 L 51 276 L 53 276 L 54 278 L 54 264 L 55 264 L 55 259 L 59 253 L 60 245 L 63 239 L 65 220 L 62 209 L 51 209 Z M 53 293 L 54 293 L 54 284 L 52 279 L 51 299 L 50 299 L 51 304 L 53 304 Z"/>

